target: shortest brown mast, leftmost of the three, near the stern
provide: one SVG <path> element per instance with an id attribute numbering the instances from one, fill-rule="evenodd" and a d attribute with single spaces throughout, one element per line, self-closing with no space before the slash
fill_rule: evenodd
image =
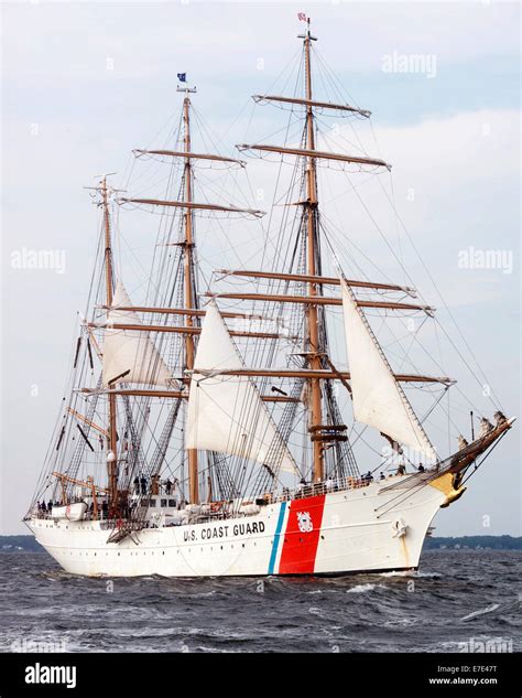
<path id="1" fill-rule="evenodd" d="M 107 307 L 112 305 L 113 272 L 112 272 L 112 245 L 110 236 L 110 215 L 107 193 L 107 176 L 101 180 L 101 205 L 104 207 L 105 228 L 105 279 Z M 109 388 L 112 386 L 109 385 Z M 118 434 L 116 427 L 116 395 L 109 393 L 109 439 L 107 452 L 107 469 L 109 481 L 110 508 L 113 509 L 118 498 Z"/>

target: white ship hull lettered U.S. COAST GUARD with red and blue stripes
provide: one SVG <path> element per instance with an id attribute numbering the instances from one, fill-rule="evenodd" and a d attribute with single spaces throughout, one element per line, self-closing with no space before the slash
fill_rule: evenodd
<path id="1" fill-rule="evenodd" d="M 416 569 L 433 517 L 452 501 L 444 477 L 412 487 L 411 477 L 398 476 L 278 502 L 254 516 L 149 527 L 133 535 L 135 543 L 128 536 L 108 544 L 108 522 L 34 517 L 28 524 L 53 558 L 75 574 L 221 577 Z"/>

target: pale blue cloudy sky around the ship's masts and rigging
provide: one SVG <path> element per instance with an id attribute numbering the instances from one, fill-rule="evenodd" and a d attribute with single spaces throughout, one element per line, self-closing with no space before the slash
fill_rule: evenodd
<path id="1" fill-rule="evenodd" d="M 374 136 L 373 154 L 393 163 L 401 219 L 505 412 L 520 415 L 518 3 L 6 2 L 0 533 L 25 530 L 85 305 L 98 214 L 84 187 L 101 172 L 123 181 L 130 151 L 157 142 L 180 109 L 178 72 L 197 85 L 222 152 L 273 132 L 278 116 L 254 111 L 250 95 L 282 86 L 300 51 L 297 11 L 349 98 L 371 109 L 368 149 Z M 249 171 L 268 192 L 259 164 Z M 388 271 L 345 193 L 325 193 Z M 63 264 L 26 268 L 28 250 L 57 250 Z M 480 268 L 477 250 L 496 250 L 498 264 Z M 422 264 L 409 261 L 422 286 Z M 459 377 L 458 363 L 448 368 Z M 520 535 L 518 425 L 435 525 L 436 535 Z"/>

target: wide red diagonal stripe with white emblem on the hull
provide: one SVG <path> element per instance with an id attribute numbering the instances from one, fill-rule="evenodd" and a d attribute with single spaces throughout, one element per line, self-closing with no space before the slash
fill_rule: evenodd
<path id="1" fill-rule="evenodd" d="M 325 496 L 322 494 L 317 497 L 294 500 L 289 504 L 286 529 L 279 565 L 280 574 L 314 572 Z"/>

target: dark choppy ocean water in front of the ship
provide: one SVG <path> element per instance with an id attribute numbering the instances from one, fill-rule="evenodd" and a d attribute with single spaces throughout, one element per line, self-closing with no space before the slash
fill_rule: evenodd
<path id="1" fill-rule="evenodd" d="M 0 651 L 520 652 L 521 558 L 431 550 L 416 573 L 111 580 L 6 552 Z"/>

